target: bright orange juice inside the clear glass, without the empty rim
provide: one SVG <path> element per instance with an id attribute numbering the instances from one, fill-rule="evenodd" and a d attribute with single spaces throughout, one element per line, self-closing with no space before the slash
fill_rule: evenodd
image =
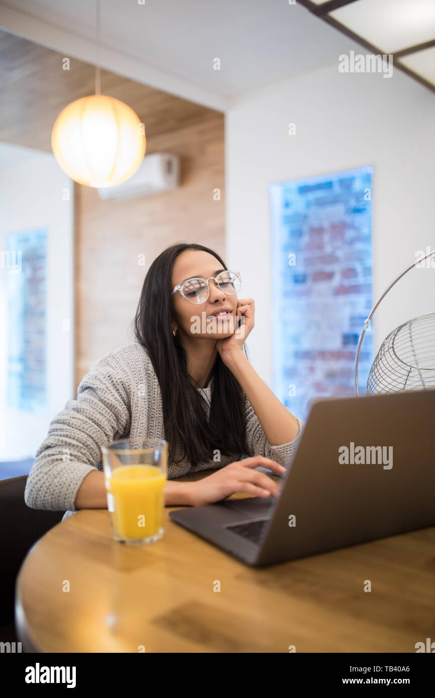
<path id="1" fill-rule="evenodd" d="M 166 475 L 155 466 L 120 466 L 106 478 L 115 535 L 147 538 L 163 527 Z"/>

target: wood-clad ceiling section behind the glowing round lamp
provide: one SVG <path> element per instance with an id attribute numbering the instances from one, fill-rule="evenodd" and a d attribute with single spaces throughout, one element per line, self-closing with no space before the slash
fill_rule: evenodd
<path id="1" fill-rule="evenodd" d="M 0 142 L 52 152 L 59 112 L 95 87 L 94 66 L 71 59 L 70 69 L 62 70 L 62 59 L 61 53 L 0 30 Z M 221 112 L 108 70 L 101 71 L 101 85 L 104 94 L 127 103 L 146 124 L 148 154 L 163 133 L 223 119 Z"/>

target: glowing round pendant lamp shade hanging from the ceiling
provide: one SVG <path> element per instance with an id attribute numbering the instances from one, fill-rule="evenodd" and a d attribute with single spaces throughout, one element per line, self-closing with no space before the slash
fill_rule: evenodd
<path id="1" fill-rule="evenodd" d="M 125 181 L 142 163 L 145 147 L 138 115 L 114 97 L 82 97 L 54 122 L 54 157 L 78 184 L 105 187 Z"/>

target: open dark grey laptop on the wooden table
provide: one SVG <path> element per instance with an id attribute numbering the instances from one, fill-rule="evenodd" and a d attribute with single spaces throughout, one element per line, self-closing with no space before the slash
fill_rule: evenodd
<path id="1" fill-rule="evenodd" d="M 251 567 L 434 526 L 434 425 L 435 389 L 317 399 L 279 497 L 169 516 Z"/>

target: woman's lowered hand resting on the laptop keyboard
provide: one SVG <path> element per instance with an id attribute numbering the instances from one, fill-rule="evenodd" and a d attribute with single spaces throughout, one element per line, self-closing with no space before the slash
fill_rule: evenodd
<path id="1" fill-rule="evenodd" d="M 216 473 L 202 477 L 202 480 L 189 483 L 191 496 L 190 505 L 199 507 L 205 504 L 220 502 L 235 492 L 246 492 L 256 497 L 278 496 L 279 484 L 274 482 L 266 473 L 255 470 L 258 466 L 270 468 L 277 475 L 286 472 L 286 468 L 276 461 L 264 456 L 253 456 L 242 461 L 235 461 L 224 466 Z"/>

